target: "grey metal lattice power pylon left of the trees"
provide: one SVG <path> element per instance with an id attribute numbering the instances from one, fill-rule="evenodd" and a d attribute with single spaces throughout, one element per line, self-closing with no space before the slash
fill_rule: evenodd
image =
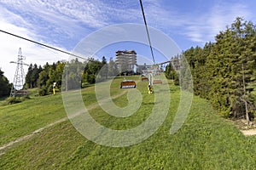
<path id="1" fill-rule="evenodd" d="M 24 82 L 25 82 L 25 74 L 24 74 L 23 65 L 27 65 L 27 64 L 23 63 L 24 59 L 25 59 L 25 57 L 22 56 L 22 54 L 21 54 L 21 48 L 19 48 L 17 62 L 15 62 L 15 61 L 10 62 L 10 63 L 17 64 L 13 86 L 12 86 L 11 92 L 9 94 L 10 97 L 16 97 L 16 96 L 26 94 L 26 91 L 21 90 L 23 88 Z"/>

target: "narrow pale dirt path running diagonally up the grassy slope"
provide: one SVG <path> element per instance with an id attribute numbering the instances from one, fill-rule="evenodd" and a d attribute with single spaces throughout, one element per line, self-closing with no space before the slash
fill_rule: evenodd
<path id="1" fill-rule="evenodd" d="M 112 99 L 117 99 L 119 98 L 120 96 L 124 95 L 126 91 L 123 91 L 122 93 L 120 94 L 117 94 L 117 95 L 114 95 L 112 97 Z M 103 102 L 104 100 L 102 100 Z M 90 105 L 89 107 L 87 107 L 87 110 L 90 111 L 90 110 L 93 110 L 95 109 L 96 107 L 98 107 L 99 105 L 97 103 L 94 103 L 92 105 Z M 74 116 L 79 116 L 79 114 L 81 114 L 83 111 L 81 111 L 80 113 L 74 115 Z M 48 127 L 52 127 L 52 126 L 55 126 L 56 124 L 58 123 L 61 123 L 61 122 L 65 122 L 68 120 L 68 117 L 64 117 L 64 118 L 61 118 L 60 120 L 58 121 L 55 121 L 55 122 L 52 122 L 52 123 L 49 123 L 48 125 L 46 125 L 45 127 L 41 127 L 41 128 L 38 128 L 37 130 L 33 131 L 32 133 L 30 134 L 27 134 L 25 136 L 22 136 L 18 139 L 15 139 L 11 142 L 9 142 L 8 144 L 3 144 L 3 146 L 0 147 L 0 156 L 2 156 L 4 154 L 4 150 L 8 149 L 9 147 L 13 146 L 14 144 L 17 144 L 17 143 L 20 143 L 21 141 L 23 140 L 26 140 L 26 139 L 30 139 L 32 136 L 34 136 L 36 133 L 40 133 L 42 131 L 44 131 L 44 129 L 48 128 Z"/>

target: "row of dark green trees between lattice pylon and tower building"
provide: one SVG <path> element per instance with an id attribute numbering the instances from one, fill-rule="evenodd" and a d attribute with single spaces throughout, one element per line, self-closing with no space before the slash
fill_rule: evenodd
<path id="1" fill-rule="evenodd" d="M 52 65 L 49 65 L 47 62 L 43 67 L 41 65 L 31 64 L 26 73 L 25 87 L 39 88 L 39 94 L 45 95 L 52 90 L 54 82 L 56 82 L 56 88 L 61 89 L 62 79 L 66 77 L 68 78 L 68 82 L 70 82 L 67 88 L 73 89 L 95 83 L 96 78 L 97 80 L 104 81 L 108 77 L 117 75 L 118 68 L 113 59 L 111 58 L 107 62 L 104 56 L 102 57 L 102 61 L 90 58 L 83 62 L 79 61 L 79 59 L 72 59 L 68 62 L 58 61 Z"/>

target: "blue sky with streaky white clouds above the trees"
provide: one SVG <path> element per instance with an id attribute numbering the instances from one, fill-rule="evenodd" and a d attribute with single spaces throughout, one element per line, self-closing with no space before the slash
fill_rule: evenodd
<path id="1" fill-rule="evenodd" d="M 256 23 L 254 0 L 143 0 L 143 6 L 148 26 L 164 32 L 182 50 L 214 42 L 237 16 Z M 70 52 L 90 33 L 123 23 L 143 24 L 139 0 L 0 0 L 1 30 Z M 10 82 L 15 65 L 9 61 L 17 59 L 19 48 L 28 64 L 44 65 L 68 57 L 2 32 L 0 38 L 0 67 Z M 111 49 L 108 58 L 114 57 Z"/>

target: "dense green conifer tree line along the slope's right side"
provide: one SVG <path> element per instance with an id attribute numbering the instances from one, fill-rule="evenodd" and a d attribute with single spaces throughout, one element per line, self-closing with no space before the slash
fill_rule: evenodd
<path id="1" fill-rule="evenodd" d="M 221 116 L 245 117 L 248 123 L 256 116 L 256 27 L 238 17 L 215 41 L 174 59 L 187 59 L 196 95 L 210 100 Z M 182 70 L 167 65 L 166 77 L 178 84 Z"/>

